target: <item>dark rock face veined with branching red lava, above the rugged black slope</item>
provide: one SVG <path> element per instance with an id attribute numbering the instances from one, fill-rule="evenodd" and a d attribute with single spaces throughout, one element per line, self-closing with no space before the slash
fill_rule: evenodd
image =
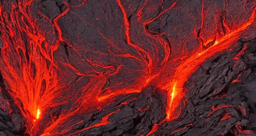
<path id="1" fill-rule="evenodd" d="M 46 2 L 2 0 L 0 6 L 0 70 L 30 135 L 79 134 L 109 124 L 120 109 L 70 132 L 117 97 L 147 86 L 166 96 L 162 122 L 174 120 L 187 100 L 183 85 L 198 67 L 255 37 L 254 1 L 71 0 L 59 7 L 51 1 L 54 8 L 44 12 Z"/>

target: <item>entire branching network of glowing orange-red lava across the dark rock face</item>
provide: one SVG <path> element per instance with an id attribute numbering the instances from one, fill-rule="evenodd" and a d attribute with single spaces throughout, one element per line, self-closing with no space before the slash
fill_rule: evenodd
<path id="1" fill-rule="evenodd" d="M 23 5 L 31 5 L 31 2 L 33 2 L 33 0 L 31 0 L 27 4 L 26 2 L 24 2 L 25 4 Z M 83 3 L 78 6 L 84 5 L 85 2 L 86 0 L 84 0 Z M 99 110 L 97 107 L 103 107 L 105 105 L 113 104 L 115 97 L 118 95 L 140 93 L 143 88 L 152 85 L 152 86 L 161 88 L 163 91 L 167 91 L 166 118 L 163 121 L 161 121 L 160 124 L 154 125 L 152 131 L 150 132 L 150 134 L 152 134 L 154 131 L 157 130 L 158 126 L 160 126 L 163 122 L 178 118 L 179 114 L 181 113 L 181 110 L 179 110 L 178 107 L 182 99 L 184 99 L 183 97 L 185 96 L 187 91 L 186 89 L 183 89 L 183 86 L 185 82 L 187 82 L 187 79 L 189 79 L 189 77 L 191 77 L 191 75 L 198 69 L 198 67 L 208 58 L 214 56 L 219 52 L 224 52 L 227 49 L 232 49 L 233 46 L 235 46 L 235 43 L 237 42 L 237 40 L 243 34 L 243 32 L 245 32 L 247 28 L 249 28 L 252 24 L 254 24 L 254 20 L 255 20 L 255 6 L 254 6 L 254 9 L 251 8 L 253 9 L 253 12 L 250 16 L 250 19 L 247 22 L 244 21 L 246 23 L 239 24 L 235 27 L 233 26 L 232 29 L 231 27 L 229 28 L 228 24 L 225 22 L 226 18 L 224 18 L 222 23 L 228 31 L 227 34 L 225 33 L 224 36 L 217 37 L 213 45 L 211 45 L 206 50 L 201 50 L 200 48 L 196 48 L 193 50 L 193 52 L 191 52 L 191 54 L 185 54 L 184 56 L 177 57 L 176 58 L 177 60 L 181 60 L 180 63 L 178 63 L 177 65 L 174 64 L 175 66 L 172 66 L 175 60 L 169 60 L 170 59 L 169 56 L 172 55 L 171 45 L 167 43 L 165 40 L 160 38 L 160 36 L 162 36 L 163 33 L 162 34 L 156 33 L 157 35 L 151 35 L 150 33 L 153 31 L 147 30 L 146 25 L 158 19 L 161 15 L 165 14 L 165 12 L 167 12 L 168 10 L 172 9 L 177 4 L 177 2 L 176 1 L 173 2 L 169 8 L 160 12 L 160 14 L 158 14 L 153 19 L 148 19 L 146 21 L 143 21 L 141 15 L 142 15 L 143 8 L 148 2 L 146 0 L 146 2 L 143 4 L 143 7 L 138 11 L 138 14 L 137 14 L 138 22 L 141 23 L 140 26 L 142 25 L 143 27 L 142 29 L 144 29 L 145 31 L 144 34 L 146 37 L 149 37 L 149 41 L 153 40 L 161 44 L 161 46 L 158 46 L 157 44 L 155 44 L 154 46 L 156 50 L 161 47 L 163 48 L 164 52 L 162 52 L 161 55 L 164 56 L 164 59 L 162 62 L 158 62 L 159 59 L 157 60 L 157 62 L 155 62 L 155 60 L 152 59 L 152 56 L 149 53 L 149 50 L 140 47 L 139 44 L 135 45 L 132 43 L 132 39 L 131 39 L 132 36 L 130 36 L 130 28 L 129 28 L 131 22 L 127 17 L 127 13 L 126 13 L 127 9 L 125 9 L 125 5 L 121 4 L 120 0 L 117 0 L 117 2 L 118 2 L 118 6 L 121 8 L 121 11 L 123 13 L 123 22 L 125 27 L 124 32 L 125 32 L 125 38 L 126 38 L 127 44 L 133 47 L 134 49 L 136 49 L 139 55 L 134 56 L 128 53 L 126 54 L 120 53 L 120 54 L 112 54 L 112 55 L 115 57 L 133 58 L 134 60 L 138 61 L 140 64 L 143 64 L 139 66 L 144 69 L 143 70 L 144 73 L 142 74 L 142 76 L 137 77 L 137 79 L 135 80 L 134 83 L 132 83 L 131 86 L 128 86 L 126 88 L 115 88 L 115 89 L 112 89 L 112 87 L 110 87 L 108 88 L 108 90 L 106 90 L 106 93 L 101 94 L 101 91 L 103 90 L 108 77 L 121 72 L 122 70 L 124 70 L 122 68 L 125 66 L 120 64 L 114 73 L 109 74 L 107 76 L 102 71 L 97 72 L 96 70 L 94 70 L 94 67 L 114 69 L 114 66 L 103 66 L 103 65 L 93 64 L 93 62 L 91 62 L 90 66 L 93 69 L 93 72 L 97 74 L 93 75 L 92 79 L 89 78 L 88 79 L 89 83 L 84 85 L 83 87 L 80 87 L 80 89 L 77 92 L 75 92 L 77 94 L 74 95 L 74 98 L 72 96 L 72 99 L 69 99 L 69 96 L 65 96 L 66 90 L 71 90 L 71 87 L 78 80 L 80 80 L 80 78 L 76 79 L 75 83 L 70 86 L 66 84 L 69 84 L 72 78 L 75 79 L 76 78 L 75 75 L 81 75 L 81 76 L 86 76 L 86 75 L 80 73 L 80 71 L 75 69 L 75 67 L 71 65 L 71 63 L 69 62 L 60 62 L 60 61 L 58 62 L 58 60 L 54 60 L 53 54 L 55 53 L 54 51 L 60 48 L 59 47 L 60 41 L 66 40 L 62 37 L 62 30 L 59 27 L 58 19 L 68 14 L 68 12 L 72 10 L 71 8 L 74 8 L 76 6 L 70 7 L 69 3 L 64 1 L 63 3 L 67 6 L 67 9 L 63 11 L 60 15 L 58 15 L 55 19 L 53 19 L 53 23 L 49 23 L 51 25 L 54 25 L 51 27 L 53 27 L 53 30 L 57 29 L 57 32 L 58 32 L 58 36 L 54 37 L 55 39 L 54 42 L 56 43 L 55 45 L 51 45 L 51 43 L 47 41 L 47 36 L 49 35 L 54 36 L 56 34 L 55 30 L 53 33 L 46 32 L 46 35 L 42 35 L 42 33 L 45 33 L 45 32 L 44 31 L 42 32 L 42 30 L 38 27 L 38 25 L 40 25 L 39 23 L 37 23 L 38 20 L 35 20 L 33 16 L 30 14 L 30 7 L 22 6 L 21 2 L 13 4 L 11 6 L 11 10 L 5 9 L 5 6 L 0 6 L 0 12 L 1 12 L 0 30 L 1 30 L 1 39 L 4 45 L 1 48 L 0 70 L 3 75 L 3 78 L 6 80 L 5 85 L 9 90 L 12 90 L 12 92 L 10 91 L 10 94 L 14 98 L 15 104 L 17 104 L 18 107 L 21 109 L 22 115 L 28 120 L 29 123 L 31 123 L 35 118 L 39 119 L 42 113 L 46 113 L 45 111 L 49 110 L 49 105 L 51 105 L 51 107 L 57 107 L 61 104 L 69 103 L 70 101 L 75 100 L 72 107 L 67 111 L 65 111 L 67 113 L 61 113 L 57 118 L 57 120 L 53 120 L 51 124 L 47 126 L 47 128 L 43 129 L 43 133 L 53 134 L 54 132 L 57 132 L 57 131 L 58 132 L 63 131 L 66 134 L 68 133 L 68 131 L 70 131 L 70 129 L 61 130 L 62 125 L 65 124 L 67 120 L 69 120 L 70 122 L 74 122 L 74 124 L 72 124 L 71 126 L 81 123 L 81 121 L 78 122 L 77 118 L 75 118 L 77 117 L 77 114 L 88 115 L 92 113 L 93 110 L 95 109 Z M 203 27 L 204 19 L 206 18 L 206 14 L 204 12 L 205 11 L 204 11 L 204 1 L 203 1 L 202 12 L 201 12 L 201 19 L 202 19 L 201 28 Z M 10 13 L 10 16 L 7 16 L 9 13 Z M 35 18 L 37 18 L 37 16 Z M 47 17 L 45 16 L 45 18 Z M 50 19 L 46 19 L 46 21 L 47 20 L 51 22 Z M 114 42 L 108 40 L 102 33 L 100 34 L 112 46 L 115 46 L 117 50 L 121 50 L 121 48 L 118 48 L 119 47 L 118 45 L 115 45 Z M 212 41 L 213 40 L 207 40 L 203 44 L 207 45 Z M 43 49 L 42 45 L 45 46 L 45 49 Z M 78 50 L 75 49 L 72 45 L 69 45 L 69 46 L 78 52 Z M 91 52 L 96 52 L 96 51 L 91 50 Z M 82 56 L 79 52 L 78 54 Z M 101 54 L 101 52 L 99 54 Z M 58 52 L 58 55 L 61 55 L 61 53 Z M 157 53 L 156 55 L 159 55 L 159 54 Z M 65 61 L 66 60 L 65 57 L 61 59 Z M 49 67 L 46 61 L 51 62 Z M 57 62 L 58 65 L 61 65 L 62 69 L 57 68 L 57 66 L 53 62 Z M 103 63 L 103 62 L 100 62 L 100 63 Z M 144 63 L 146 63 L 146 65 Z M 56 67 L 57 69 L 55 69 L 53 66 Z M 68 68 L 65 69 L 63 67 L 68 67 Z M 155 67 L 158 67 L 159 69 L 154 69 Z M 72 78 L 70 78 L 70 80 L 68 80 L 67 82 L 65 81 L 63 82 L 63 79 L 66 80 L 66 77 L 64 75 L 68 74 L 65 72 L 66 71 L 70 72 L 72 70 L 75 71 L 75 73 L 71 75 Z M 64 74 L 61 75 L 60 74 L 61 72 L 64 72 Z M 130 72 L 129 69 L 128 69 L 128 72 Z M 34 75 L 34 73 L 36 74 Z M 90 73 L 91 72 L 89 72 L 88 74 Z M 43 83 L 44 85 L 42 85 Z M 81 93 L 81 96 L 79 93 Z M 63 101 L 56 102 L 57 99 L 59 98 L 63 99 Z M 22 106 L 19 100 L 22 102 Z M 128 102 L 129 101 L 123 102 L 121 104 L 128 104 Z M 185 107 L 185 101 L 183 102 Z M 40 110 L 38 109 L 38 107 L 40 107 Z M 98 127 L 106 123 L 108 124 L 109 122 L 107 121 L 107 117 L 108 116 L 103 117 L 100 123 L 91 125 L 87 127 L 87 129 Z M 33 125 L 28 124 L 29 126 L 28 129 L 30 129 L 31 127 L 36 128 L 39 125 L 40 124 L 37 122 L 35 122 Z M 34 130 L 37 130 L 37 129 L 34 129 Z M 41 132 L 39 133 L 41 134 Z M 34 132 L 31 131 L 31 135 L 36 135 L 36 134 L 38 134 L 36 131 Z"/>

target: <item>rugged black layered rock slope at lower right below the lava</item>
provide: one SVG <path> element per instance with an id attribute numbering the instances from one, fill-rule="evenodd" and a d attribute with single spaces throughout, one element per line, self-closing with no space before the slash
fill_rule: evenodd
<path id="1" fill-rule="evenodd" d="M 185 97 L 188 100 L 180 116 L 159 126 L 153 135 L 254 135 L 255 101 L 252 97 L 255 97 L 256 67 L 252 64 L 256 61 L 256 43 L 254 40 L 246 43 L 248 48 L 241 60 L 232 60 L 230 56 L 242 49 L 243 42 L 236 50 L 207 60 L 186 83 L 186 88 L 191 91 Z M 241 76 L 237 78 L 238 74 Z M 138 100 L 121 105 L 121 111 L 109 118 L 110 124 L 90 129 L 82 135 L 147 134 L 154 124 L 165 118 L 165 97 L 153 90 L 148 87 L 143 90 L 145 93 L 131 96 Z M 147 109 L 147 106 L 148 110 L 138 110 Z M 217 109 L 221 106 L 224 107 Z M 213 107 L 216 109 L 214 112 Z M 237 129 L 239 126 L 241 130 Z"/>

